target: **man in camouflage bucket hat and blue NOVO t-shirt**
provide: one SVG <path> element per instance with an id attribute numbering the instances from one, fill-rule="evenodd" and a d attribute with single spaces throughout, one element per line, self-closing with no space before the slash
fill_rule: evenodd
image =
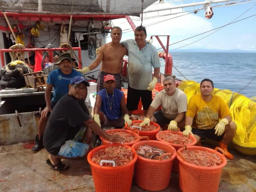
<path id="1" fill-rule="evenodd" d="M 38 152 L 41 147 L 43 147 L 42 138 L 48 118 L 58 100 L 68 93 L 68 86 L 70 84 L 70 80 L 76 76 L 83 77 L 80 72 L 77 72 L 75 69 L 72 68 L 75 61 L 76 60 L 71 57 L 70 53 L 60 54 L 58 57 L 58 61 L 55 63 L 56 65 L 59 65 L 59 68 L 51 71 L 48 75 L 45 89 L 46 107 L 42 111 L 41 118 L 39 120 L 38 135 L 36 136 L 35 145 L 31 149 L 33 153 Z M 53 98 L 51 99 L 51 92 L 53 88 Z"/>

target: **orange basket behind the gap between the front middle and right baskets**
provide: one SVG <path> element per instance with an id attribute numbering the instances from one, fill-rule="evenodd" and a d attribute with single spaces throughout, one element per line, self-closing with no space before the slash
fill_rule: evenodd
<path id="1" fill-rule="evenodd" d="M 166 142 L 166 141 L 160 139 L 160 138 L 159 138 L 159 134 L 160 134 L 160 133 L 163 133 L 163 132 L 164 132 L 164 133 L 170 132 L 170 133 L 173 133 L 173 134 L 183 135 L 182 132 L 180 132 L 180 129 L 179 129 L 179 128 L 178 128 L 178 131 L 160 131 L 159 133 L 156 134 L 156 139 L 157 139 L 158 141 L 162 141 L 162 142 L 165 142 L 165 143 L 170 144 L 171 146 L 173 146 L 173 147 L 176 149 L 176 151 L 178 151 L 181 147 L 184 147 L 184 144 L 179 145 L 179 144 L 169 143 L 169 142 Z M 194 146 L 194 145 L 196 144 L 196 142 L 197 142 L 197 141 L 196 141 L 196 138 L 193 137 L 192 135 L 189 135 L 189 138 L 192 139 L 193 142 L 190 143 L 190 144 L 187 144 L 186 146 Z M 182 142 L 182 141 L 181 141 L 181 142 Z M 173 161 L 172 172 L 174 172 L 174 173 L 179 173 L 179 160 L 177 159 L 177 157 L 176 157 L 176 158 L 174 159 L 174 161 Z"/>

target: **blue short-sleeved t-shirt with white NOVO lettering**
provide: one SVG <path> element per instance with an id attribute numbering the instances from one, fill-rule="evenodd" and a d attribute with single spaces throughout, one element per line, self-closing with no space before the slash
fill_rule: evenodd
<path id="1" fill-rule="evenodd" d="M 76 71 L 75 69 L 72 69 L 72 73 L 69 75 L 62 73 L 60 68 L 50 72 L 46 83 L 53 85 L 54 92 L 52 101 L 58 102 L 62 96 L 68 93 L 68 85 L 70 84 L 71 79 L 76 76 L 83 77 L 82 73 Z"/>

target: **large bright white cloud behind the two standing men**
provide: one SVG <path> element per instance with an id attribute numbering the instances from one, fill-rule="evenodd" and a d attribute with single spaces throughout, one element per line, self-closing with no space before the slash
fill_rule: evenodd
<path id="1" fill-rule="evenodd" d="M 152 10 L 155 8 L 155 4 L 149 6 L 146 10 Z M 159 4 L 159 6 L 164 6 L 164 4 Z M 166 5 L 165 5 L 166 7 Z M 160 8 L 160 7 L 159 7 Z M 175 10 L 172 10 L 174 12 Z M 180 11 L 177 9 L 176 11 Z M 159 15 L 168 14 L 164 11 L 159 12 Z M 211 22 L 201 18 L 195 14 L 185 15 L 187 13 L 180 13 L 175 15 L 168 15 L 156 18 L 149 18 L 156 16 L 156 12 L 147 13 L 146 17 L 143 17 L 143 26 L 146 26 L 147 29 L 147 40 L 150 39 L 151 35 L 170 35 L 169 44 L 175 43 L 179 40 L 183 40 L 187 37 L 208 31 L 213 29 Z M 148 19 L 147 19 L 148 18 Z M 136 26 L 141 24 L 141 18 L 132 17 L 133 22 Z M 125 18 L 112 20 L 114 26 L 119 26 L 123 29 L 122 40 L 134 39 L 134 32 L 131 31 L 131 26 Z M 128 29 L 128 30 L 127 30 Z M 129 32 L 130 31 L 130 32 Z M 108 37 L 110 34 L 108 35 Z M 164 45 L 166 45 L 166 37 L 160 37 Z M 191 40 L 193 42 L 194 39 Z M 107 39 L 107 42 L 110 42 L 111 38 Z M 177 43 L 174 46 L 170 47 L 177 48 L 183 45 L 188 44 L 187 42 Z M 158 41 L 153 38 L 153 45 L 157 48 L 160 48 Z M 194 45 L 194 44 L 193 44 Z M 197 44 L 201 46 L 201 44 Z"/>

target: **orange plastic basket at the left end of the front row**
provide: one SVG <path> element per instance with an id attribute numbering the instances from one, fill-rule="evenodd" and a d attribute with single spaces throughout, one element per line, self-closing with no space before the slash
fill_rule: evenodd
<path id="1" fill-rule="evenodd" d="M 112 144 L 111 146 L 119 146 L 118 144 Z M 134 158 L 126 165 L 117 167 L 100 166 L 92 162 L 94 153 L 109 147 L 108 145 L 101 145 L 94 148 L 89 152 L 87 161 L 91 165 L 92 177 L 97 192 L 130 192 L 132 185 L 132 177 L 134 171 L 134 165 L 137 161 L 138 155 L 136 151 L 127 145 L 124 147 L 131 148 Z"/>

